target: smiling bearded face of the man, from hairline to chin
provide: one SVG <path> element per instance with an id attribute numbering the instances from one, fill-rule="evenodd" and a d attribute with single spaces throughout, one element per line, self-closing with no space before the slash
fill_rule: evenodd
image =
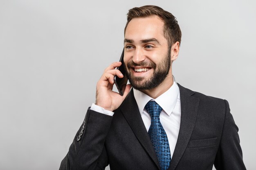
<path id="1" fill-rule="evenodd" d="M 164 22 L 157 16 L 134 18 L 126 28 L 124 63 L 135 89 L 153 89 L 171 72 L 171 48 L 163 29 Z"/>

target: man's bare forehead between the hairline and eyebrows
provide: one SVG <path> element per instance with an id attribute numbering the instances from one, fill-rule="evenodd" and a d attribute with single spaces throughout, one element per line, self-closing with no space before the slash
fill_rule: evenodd
<path id="1" fill-rule="evenodd" d="M 141 39 L 164 38 L 164 22 L 156 15 L 133 18 L 125 32 L 125 39 L 139 41 Z"/>

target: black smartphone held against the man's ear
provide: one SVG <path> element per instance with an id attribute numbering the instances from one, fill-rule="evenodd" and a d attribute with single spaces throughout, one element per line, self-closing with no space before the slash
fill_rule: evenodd
<path id="1" fill-rule="evenodd" d="M 125 74 L 125 70 L 124 70 L 124 49 L 123 49 L 123 52 L 121 54 L 121 58 L 119 60 L 122 65 L 120 67 L 117 68 L 117 70 L 119 70 L 123 75 L 124 77 L 123 78 L 119 78 L 118 76 L 114 76 L 114 81 L 115 81 L 115 85 L 117 86 L 117 90 L 119 92 L 119 94 L 121 96 L 124 95 L 124 90 L 125 90 L 125 87 L 126 87 L 126 84 L 127 84 L 127 81 L 128 81 L 128 78 Z"/>

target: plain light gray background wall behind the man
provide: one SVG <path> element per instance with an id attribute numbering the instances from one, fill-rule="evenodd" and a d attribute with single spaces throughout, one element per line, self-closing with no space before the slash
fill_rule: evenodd
<path id="1" fill-rule="evenodd" d="M 58 169 L 99 77 L 119 60 L 128 9 L 146 4 L 177 17 L 177 82 L 229 101 L 256 168 L 254 0 L 0 0 L 1 170 Z"/>

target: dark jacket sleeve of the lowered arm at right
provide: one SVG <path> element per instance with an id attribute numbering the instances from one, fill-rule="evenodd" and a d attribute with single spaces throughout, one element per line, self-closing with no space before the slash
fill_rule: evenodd
<path id="1" fill-rule="evenodd" d="M 225 100 L 225 104 L 225 121 L 214 166 L 217 170 L 246 170 L 240 147 L 238 127 L 230 113 L 227 100 Z"/>

